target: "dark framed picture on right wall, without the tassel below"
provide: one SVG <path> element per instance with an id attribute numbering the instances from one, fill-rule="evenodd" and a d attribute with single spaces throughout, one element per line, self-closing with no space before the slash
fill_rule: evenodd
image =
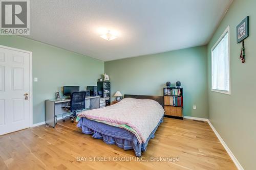
<path id="1" fill-rule="evenodd" d="M 249 36 L 249 16 L 246 16 L 237 26 L 237 43 Z"/>

